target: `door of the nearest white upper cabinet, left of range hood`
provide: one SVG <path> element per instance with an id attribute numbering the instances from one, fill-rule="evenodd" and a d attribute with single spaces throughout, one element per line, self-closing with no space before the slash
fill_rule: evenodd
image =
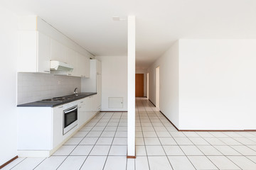
<path id="1" fill-rule="evenodd" d="M 37 72 L 50 73 L 50 38 L 38 32 L 37 41 Z"/>

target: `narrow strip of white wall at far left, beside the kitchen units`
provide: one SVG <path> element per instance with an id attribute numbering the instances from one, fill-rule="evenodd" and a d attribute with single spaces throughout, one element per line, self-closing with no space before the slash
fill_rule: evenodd
<path id="1" fill-rule="evenodd" d="M 16 60 L 18 56 L 18 19 L 0 6 L 1 123 L 0 166 L 17 155 Z"/>

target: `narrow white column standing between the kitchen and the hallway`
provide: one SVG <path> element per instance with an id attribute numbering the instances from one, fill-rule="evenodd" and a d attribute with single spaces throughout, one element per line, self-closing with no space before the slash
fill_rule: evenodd
<path id="1" fill-rule="evenodd" d="M 128 16 L 127 157 L 135 158 L 135 16 Z"/>

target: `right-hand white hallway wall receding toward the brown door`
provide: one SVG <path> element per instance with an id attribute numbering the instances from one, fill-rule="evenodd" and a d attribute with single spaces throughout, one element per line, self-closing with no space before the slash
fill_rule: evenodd
<path id="1" fill-rule="evenodd" d="M 149 69 L 149 100 L 156 105 L 156 67 L 160 66 L 160 111 L 178 127 L 178 41 Z"/>

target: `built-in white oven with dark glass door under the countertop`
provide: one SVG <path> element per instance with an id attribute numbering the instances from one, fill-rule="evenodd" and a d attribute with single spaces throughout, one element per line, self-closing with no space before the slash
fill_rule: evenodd
<path id="1" fill-rule="evenodd" d="M 78 105 L 63 106 L 63 135 L 78 125 Z"/>

